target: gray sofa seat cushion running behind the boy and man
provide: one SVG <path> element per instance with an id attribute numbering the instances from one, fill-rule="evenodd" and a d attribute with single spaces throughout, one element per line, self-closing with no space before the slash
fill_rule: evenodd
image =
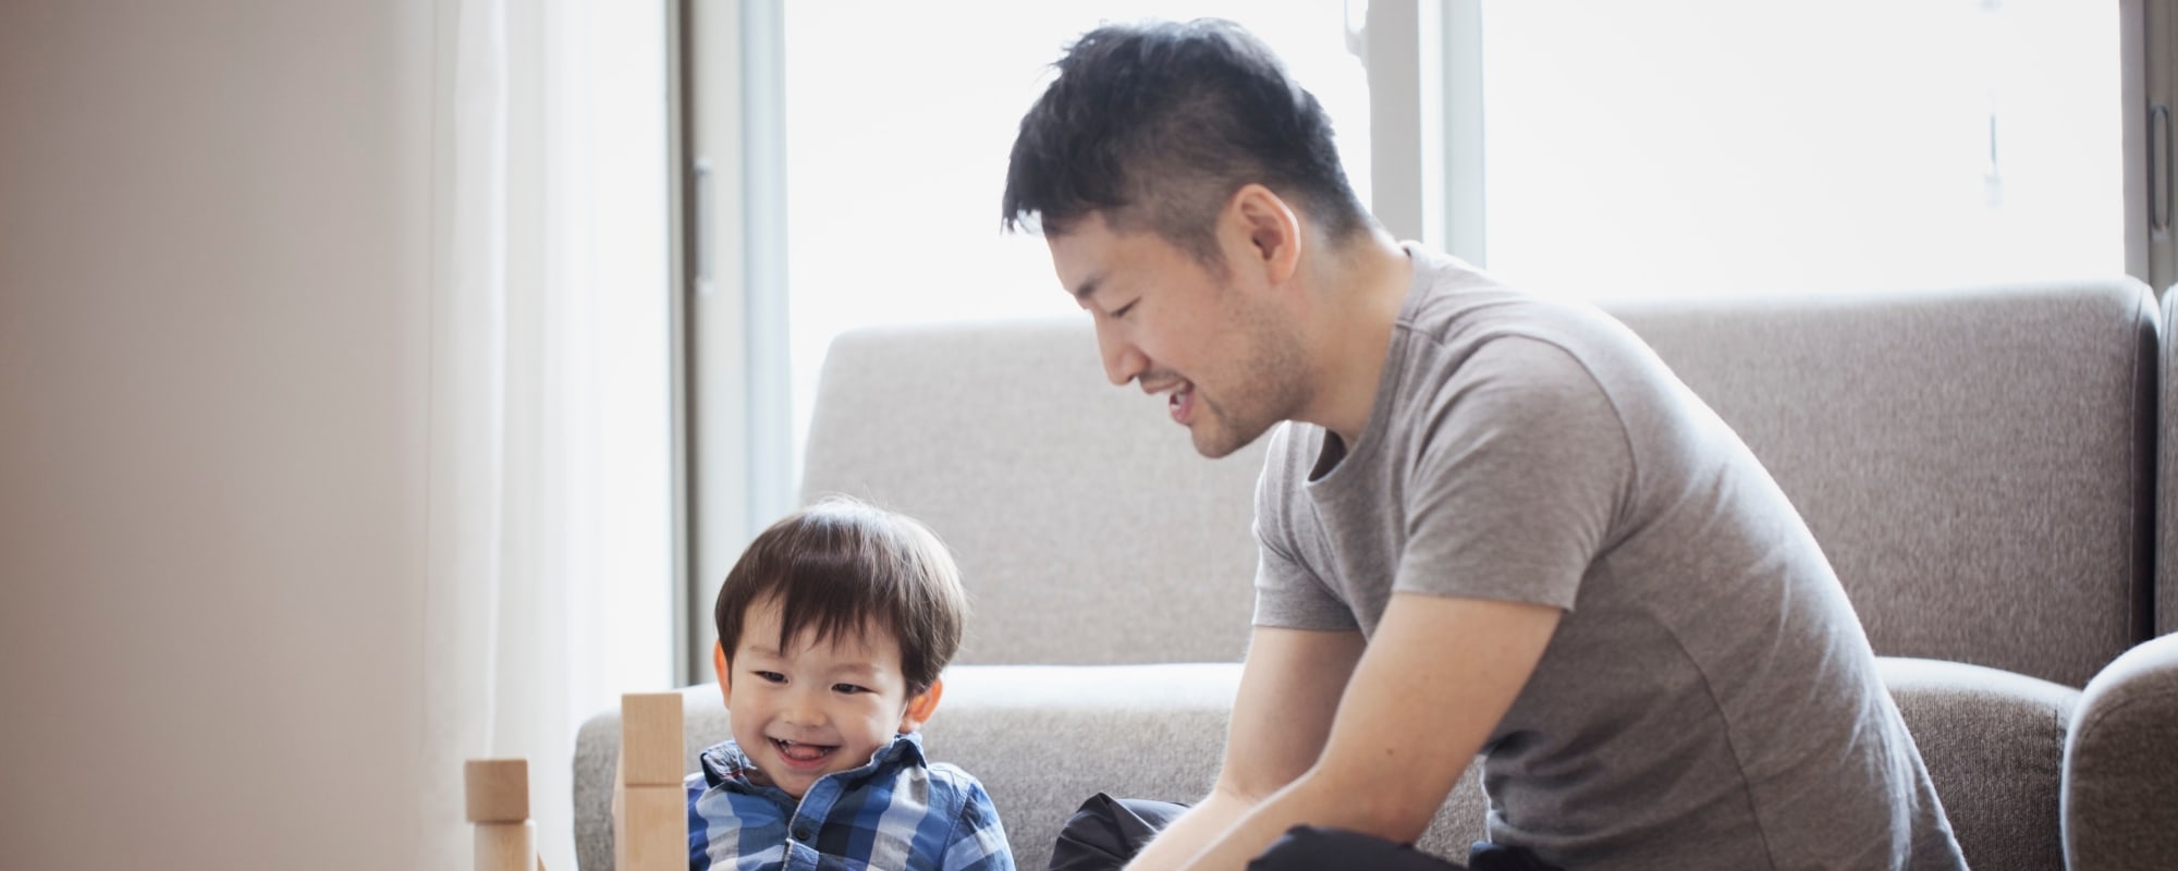
<path id="1" fill-rule="evenodd" d="M 1928 760 L 1951 827 L 1980 869 L 2063 869 L 2058 780 L 2080 692 L 1993 668 L 1877 660 Z M 1196 801 L 1224 753 L 1239 664 L 954 666 L 923 727 L 932 760 L 991 790 L 1015 860 L 1041 869 L 1059 827 L 1096 793 Z M 732 736 L 719 688 L 682 690 L 684 766 Z M 584 723 L 575 747 L 575 851 L 612 867 L 612 769 L 621 716 Z M 1483 836 L 1481 764 L 1468 766 L 1418 847 L 1464 858 Z"/>

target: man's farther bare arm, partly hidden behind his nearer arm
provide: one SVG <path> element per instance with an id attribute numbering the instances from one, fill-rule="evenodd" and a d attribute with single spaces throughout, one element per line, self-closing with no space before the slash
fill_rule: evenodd
<path id="1" fill-rule="evenodd" d="M 1359 660 L 1359 631 L 1257 627 L 1233 699 L 1218 786 L 1165 827 L 1128 871 L 1185 867 L 1248 810 L 1309 771 Z"/>

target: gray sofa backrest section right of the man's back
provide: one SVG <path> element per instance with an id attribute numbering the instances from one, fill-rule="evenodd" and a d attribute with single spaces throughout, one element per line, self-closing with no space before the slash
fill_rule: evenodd
<path id="1" fill-rule="evenodd" d="M 2141 283 L 1605 309 L 1762 457 L 1877 653 L 2084 686 L 2145 638 Z"/>

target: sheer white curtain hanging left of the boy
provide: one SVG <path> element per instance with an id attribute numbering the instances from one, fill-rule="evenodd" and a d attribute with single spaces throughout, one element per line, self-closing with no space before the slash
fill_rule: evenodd
<path id="1" fill-rule="evenodd" d="M 673 682 L 662 4 L 440 0 L 429 867 L 462 760 L 527 758 L 573 869 L 575 729 Z"/>

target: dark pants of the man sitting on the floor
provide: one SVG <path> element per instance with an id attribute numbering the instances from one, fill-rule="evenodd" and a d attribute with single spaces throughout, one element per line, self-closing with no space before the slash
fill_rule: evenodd
<path id="1" fill-rule="evenodd" d="M 1074 819 L 1059 830 L 1050 871 L 1109 871 L 1126 864 L 1157 832 L 1172 825 L 1187 806 L 1150 799 L 1113 799 L 1104 793 L 1082 801 Z M 1472 871 L 1559 871 L 1518 847 L 1477 843 L 1468 854 Z M 1296 825 L 1248 862 L 1250 871 L 1457 871 L 1459 864 L 1429 856 L 1411 845 L 1385 838 Z"/>

